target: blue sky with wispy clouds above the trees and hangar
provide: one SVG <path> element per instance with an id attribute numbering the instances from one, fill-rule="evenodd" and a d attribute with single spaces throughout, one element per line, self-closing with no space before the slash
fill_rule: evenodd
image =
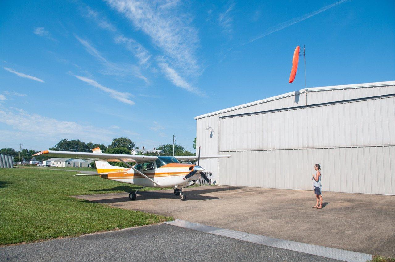
<path id="1" fill-rule="evenodd" d="M 0 147 L 62 138 L 194 152 L 195 116 L 395 80 L 394 1 L 1 1 Z M 303 61 L 303 60 L 301 60 Z"/>

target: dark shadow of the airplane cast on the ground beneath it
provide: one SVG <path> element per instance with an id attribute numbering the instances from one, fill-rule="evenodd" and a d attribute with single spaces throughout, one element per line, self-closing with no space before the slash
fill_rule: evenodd
<path id="1" fill-rule="evenodd" d="M 184 193 L 186 194 L 185 201 L 220 199 L 219 197 L 211 197 L 211 196 L 203 196 L 203 195 L 207 194 L 207 193 L 229 191 L 229 190 L 236 190 L 236 189 L 242 189 L 242 188 L 243 187 L 222 187 L 222 188 L 208 187 L 207 189 L 199 189 L 199 187 L 196 187 L 195 190 L 188 189 L 188 191 L 187 190 L 184 191 Z M 159 199 L 159 198 L 179 199 L 180 197 L 174 195 L 173 192 L 163 192 L 161 190 L 139 191 L 139 192 L 137 192 L 137 198 L 133 201 Z M 87 200 L 87 201 L 98 202 L 98 203 L 103 203 L 103 204 L 111 204 L 111 203 L 117 203 L 117 202 L 127 202 L 127 201 L 131 201 L 131 200 L 127 196 L 127 197 L 106 198 L 106 199 Z"/>

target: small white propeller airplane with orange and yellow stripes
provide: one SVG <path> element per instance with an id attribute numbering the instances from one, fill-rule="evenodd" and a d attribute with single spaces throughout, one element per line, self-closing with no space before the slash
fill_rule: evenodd
<path id="1" fill-rule="evenodd" d="M 104 179 L 118 182 L 139 185 L 141 188 L 129 194 L 130 200 L 136 199 L 136 193 L 144 187 L 172 187 L 174 195 L 180 196 L 181 200 L 186 200 L 186 195 L 182 192 L 185 187 L 194 185 L 201 176 L 209 182 L 203 173 L 204 168 L 199 166 L 200 159 L 227 158 L 230 155 L 199 155 L 190 156 L 154 156 L 154 155 L 124 155 L 102 153 L 100 148 L 92 149 L 93 153 L 68 152 L 45 150 L 34 155 L 47 155 L 51 157 L 68 157 L 77 159 L 95 160 L 97 174 L 77 174 L 74 176 L 100 176 Z M 198 165 L 181 164 L 179 161 L 198 161 Z M 110 165 L 107 161 L 120 161 L 129 168 Z M 127 162 L 136 162 L 134 166 Z"/>

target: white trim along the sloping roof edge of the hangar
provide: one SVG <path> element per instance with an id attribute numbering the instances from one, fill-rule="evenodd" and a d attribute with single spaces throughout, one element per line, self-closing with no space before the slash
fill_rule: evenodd
<path id="1" fill-rule="evenodd" d="M 344 84 L 344 85 L 339 85 L 339 86 L 321 86 L 321 87 L 310 87 L 307 88 L 307 91 L 324 91 L 324 90 L 337 90 L 337 89 L 349 89 L 349 88 L 362 88 L 362 87 L 374 87 L 374 86 L 389 86 L 389 85 L 395 85 L 395 80 L 393 81 L 384 81 L 384 82 L 372 82 L 372 83 L 362 83 L 362 84 Z M 286 94 L 282 94 L 282 95 L 276 95 L 276 96 L 272 96 L 272 97 L 268 97 L 265 99 L 261 99 L 261 100 L 257 100 L 254 102 L 250 102 L 250 103 L 246 103 L 243 105 L 237 105 L 235 107 L 229 107 L 226 109 L 222 109 L 222 110 L 218 110 L 218 111 L 214 111 L 211 113 L 207 113 L 207 114 L 202 114 L 199 116 L 195 116 L 195 119 L 199 119 L 199 118 L 205 118 L 207 116 L 213 116 L 216 114 L 221 114 L 224 112 L 228 112 L 228 111 L 232 111 L 232 110 L 236 110 L 236 109 L 241 109 L 243 107 L 249 107 L 252 105 L 257 105 L 263 102 L 268 102 L 268 101 L 272 101 L 272 100 L 276 100 L 276 99 L 280 99 L 283 97 L 287 97 L 290 95 L 294 95 L 295 92 L 299 91 L 299 94 L 303 94 L 305 92 L 305 88 L 301 89 L 301 90 L 295 90 L 292 92 L 288 92 Z"/>

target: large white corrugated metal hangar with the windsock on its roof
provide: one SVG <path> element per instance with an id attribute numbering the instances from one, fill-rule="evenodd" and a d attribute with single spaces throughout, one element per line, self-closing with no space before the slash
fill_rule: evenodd
<path id="1" fill-rule="evenodd" d="M 395 195 L 395 81 L 316 87 L 196 116 L 220 185 Z"/>

